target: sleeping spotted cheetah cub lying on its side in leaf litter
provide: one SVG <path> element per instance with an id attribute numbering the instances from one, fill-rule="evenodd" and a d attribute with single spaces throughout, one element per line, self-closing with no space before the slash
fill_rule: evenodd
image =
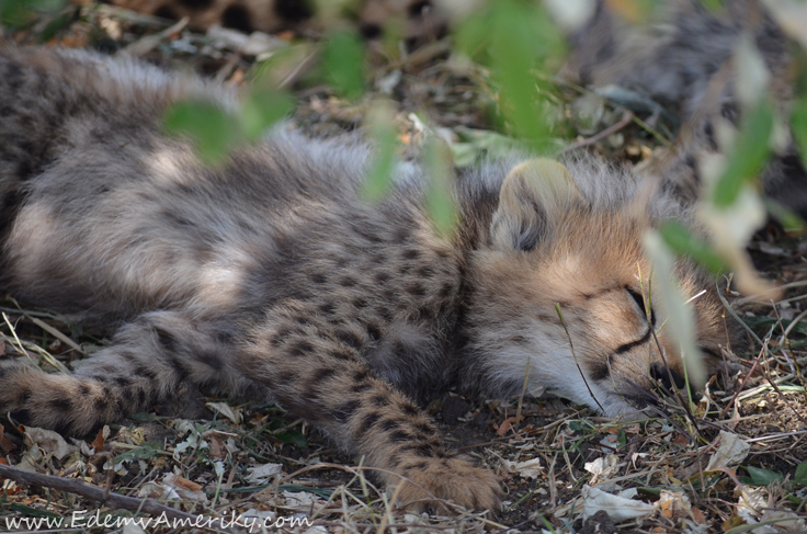
<path id="1" fill-rule="evenodd" d="M 446 448 L 417 401 L 518 395 L 528 373 L 531 390 L 617 416 L 683 376 L 638 276 L 651 273 L 643 231 L 681 208 L 632 201 L 636 179 L 489 162 L 456 175 L 445 239 L 423 209 L 423 169 L 400 166 L 367 205 L 371 150 L 281 130 L 212 169 L 161 134 L 184 98 L 238 105 L 126 58 L 0 50 L 0 288 L 115 331 L 72 376 L 0 367 L 0 411 L 15 421 L 83 434 L 190 382 L 274 399 L 404 485 L 405 504 L 488 509 L 496 476 Z M 678 275 L 689 296 L 706 289 L 694 306 L 716 360 L 713 283 L 685 262 Z"/>

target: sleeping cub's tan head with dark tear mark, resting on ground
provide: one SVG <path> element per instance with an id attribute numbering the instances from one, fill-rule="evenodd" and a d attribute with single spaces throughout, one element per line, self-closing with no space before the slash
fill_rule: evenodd
<path id="1" fill-rule="evenodd" d="M 664 327 L 641 246 L 670 214 L 658 198 L 639 205 L 639 189 L 616 179 L 629 177 L 532 160 L 502 182 L 488 242 L 470 269 L 469 338 L 490 390 L 520 393 L 528 366 L 530 388 L 617 416 L 652 404 L 659 387 L 684 386 L 680 345 Z M 677 275 L 712 374 L 726 343 L 714 281 L 684 260 Z"/>

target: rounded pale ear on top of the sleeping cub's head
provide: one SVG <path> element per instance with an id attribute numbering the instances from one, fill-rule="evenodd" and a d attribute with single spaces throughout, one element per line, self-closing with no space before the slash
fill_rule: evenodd
<path id="1" fill-rule="evenodd" d="M 533 250 L 556 215 L 583 202 L 571 173 L 557 161 L 536 158 L 519 163 L 501 184 L 490 224 L 493 243 L 505 250 Z"/>

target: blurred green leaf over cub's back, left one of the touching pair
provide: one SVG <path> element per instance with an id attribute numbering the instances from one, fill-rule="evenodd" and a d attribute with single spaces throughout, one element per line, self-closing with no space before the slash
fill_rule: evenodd
<path id="1" fill-rule="evenodd" d="M 220 161 L 240 137 L 238 121 L 209 102 L 174 104 L 166 113 L 163 127 L 169 134 L 193 139 L 200 156 L 212 163 Z"/>

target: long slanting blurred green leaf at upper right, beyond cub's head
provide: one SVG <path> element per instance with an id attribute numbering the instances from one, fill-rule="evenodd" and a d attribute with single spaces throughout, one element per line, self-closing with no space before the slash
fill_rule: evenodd
<path id="1" fill-rule="evenodd" d="M 717 181 L 713 194 L 716 207 L 728 207 L 737 200 L 742 185 L 762 170 L 771 155 L 773 111 L 766 102 L 752 107 L 745 115 L 735 146 L 729 151 L 726 171 Z"/>

